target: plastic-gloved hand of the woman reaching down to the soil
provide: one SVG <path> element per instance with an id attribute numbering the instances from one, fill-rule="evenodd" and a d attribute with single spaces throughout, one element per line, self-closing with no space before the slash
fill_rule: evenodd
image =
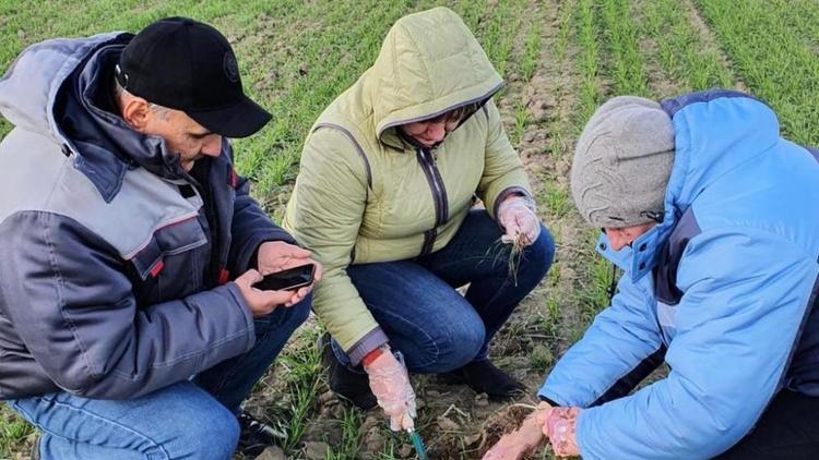
<path id="1" fill-rule="evenodd" d="M 406 367 L 387 349 L 364 370 L 369 376 L 370 389 L 378 399 L 378 405 L 390 417 L 390 429 L 414 429 L 415 391 L 410 385 Z"/>

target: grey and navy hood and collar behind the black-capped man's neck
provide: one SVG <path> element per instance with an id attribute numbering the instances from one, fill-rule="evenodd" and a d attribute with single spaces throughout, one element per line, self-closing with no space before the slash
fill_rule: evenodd
<path id="1" fill-rule="evenodd" d="M 162 138 L 138 133 L 100 108 L 109 101 L 114 65 L 132 37 L 110 33 L 43 41 L 24 50 L 0 80 L 0 113 L 73 155 L 74 167 L 106 202 L 134 165 L 167 178 L 180 171 Z"/>

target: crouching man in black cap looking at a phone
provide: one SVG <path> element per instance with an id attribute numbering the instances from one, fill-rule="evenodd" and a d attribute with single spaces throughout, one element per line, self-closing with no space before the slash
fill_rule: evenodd
<path id="1" fill-rule="evenodd" d="M 34 45 L 0 112 L 0 399 L 45 433 L 34 455 L 260 451 L 272 428 L 241 402 L 311 286 L 251 285 L 313 261 L 233 168 L 226 137 L 271 116 L 225 37 L 171 17 Z"/>

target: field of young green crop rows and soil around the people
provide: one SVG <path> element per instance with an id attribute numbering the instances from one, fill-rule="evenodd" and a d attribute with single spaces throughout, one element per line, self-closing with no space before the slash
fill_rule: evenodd
<path id="1" fill-rule="evenodd" d="M 558 245 L 548 278 L 491 350 L 530 396 L 488 403 L 463 387 L 413 376 L 431 457 L 474 459 L 526 413 L 554 361 L 606 302 L 610 268 L 593 254 L 595 232 L 575 214 L 567 181 L 573 142 L 594 108 L 619 94 L 661 99 L 737 88 L 767 100 L 786 137 L 817 145 L 819 2 L 0 0 L 0 71 L 24 47 L 50 37 L 134 32 L 170 15 L 213 24 L 234 44 L 246 89 L 274 113 L 261 133 L 236 142 L 236 152 L 254 196 L 278 219 L 312 121 L 373 61 L 395 20 L 438 4 L 463 16 L 508 82 L 500 111 Z M 0 118 L 0 136 L 10 129 Z M 360 413 L 328 392 L 314 349 L 319 328 L 311 320 L 297 332 L 248 409 L 278 424 L 287 458 L 413 458 L 407 439 L 391 434 L 377 411 Z M 35 436 L 0 409 L 0 458 L 27 458 Z M 548 449 L 533 456 L 549 457 Z"/>

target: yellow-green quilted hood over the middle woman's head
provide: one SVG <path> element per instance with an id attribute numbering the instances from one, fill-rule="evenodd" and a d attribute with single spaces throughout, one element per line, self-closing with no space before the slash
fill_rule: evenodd
<path id="1" fill-rule="evenodd" d="M 503 87 L 466 24 L 443 7 L 399 20 L 363 78 L 381 140 L 394 126 L 486 101 Z"/>

